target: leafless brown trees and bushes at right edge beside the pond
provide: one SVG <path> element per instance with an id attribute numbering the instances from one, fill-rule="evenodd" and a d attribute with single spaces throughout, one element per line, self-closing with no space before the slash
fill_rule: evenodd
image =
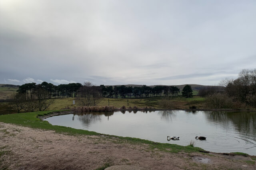
<path id="1" fill-rule="evenodd" d="M 212 108 L 256 108 L 256 69 L 243 69 L 237 79 L 226 78 L 219 87 L 199 91 L 206 96 L 206 105 Z"/>

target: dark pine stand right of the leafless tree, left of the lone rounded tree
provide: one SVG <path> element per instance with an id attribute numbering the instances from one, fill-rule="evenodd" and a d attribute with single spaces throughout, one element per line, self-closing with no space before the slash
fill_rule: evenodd
<path id="1" fill-rule="evenodd" d="M 178 95 L 180 89 L 175 86 L 155 86 L 150 87 L 143 85 L 142 87 L 132 86 L 104 86 L 100 85 L 101 96 L 108 98 L 148 98 L 154 96 L 170 96 Z"/>

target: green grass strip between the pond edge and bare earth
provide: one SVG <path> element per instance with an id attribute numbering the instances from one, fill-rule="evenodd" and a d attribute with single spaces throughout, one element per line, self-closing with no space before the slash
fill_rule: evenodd
<path id="1" fill-rule="evenodd" d="M 56 133 L 64 133 L 66 135 L 102 135 L 100 133 L 80 130 L 80 129 L 73 129 L 70 127 L 64 126 L 56 126 L 51 125 L 48 121 L 42 121 L 37 116 L 38 115 L 48 115 L 51 114 L 52 111 L 37 111 L 37 112 L 29 112 L 29 113 L 17 113 L 17 114 L 10 114 L 10 115 L 0 115 L 0 121 L 4 123 L 13 123 L 16 125 L 37 128 L 37 129 L 44 129 L 44 130 L 53 130 Z M 107 138 L 116 137 L 118 143 L 132 143 L 132 144 L 148 144 L 150 149 L 159 149 L 166 152 L 199 152 L 203 149 L 198 147 L 192 146 L 180 146 L 175 144 L 168 144 L 168 143 L 156 143 L 144 139 L 138 138 L 131 138 L 131 137 L 117 137 L 113 135 L 104 135 Z"/>

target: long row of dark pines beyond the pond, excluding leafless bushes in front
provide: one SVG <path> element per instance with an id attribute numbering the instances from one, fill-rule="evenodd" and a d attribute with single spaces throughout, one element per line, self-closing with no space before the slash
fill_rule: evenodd
<path id="1" fill-rule="evenodd" d="M 52 83 L 42 82 L 41 84 L 26 83 L 19 86 L 17 90 L 18 95 L 22 95 L 24 100 L 33 100 L 36 98 L 37 90 L 42 91 L 43 99 L 50 98 L 76 98 L 80 95 L 84 96 L 84 89 L 91 87 L 93 93 L 97 96 L 105 98 L 148 98 L 161 96 L 176 96 L 180 89 L 176 86 L 155 86 L 150 87 L 143 85 L 142 87 L 132 86 L 94 86 L 90 82 L 85 82 L 84 85 L 80 83 L 60 84 L 55 86 Z"/>

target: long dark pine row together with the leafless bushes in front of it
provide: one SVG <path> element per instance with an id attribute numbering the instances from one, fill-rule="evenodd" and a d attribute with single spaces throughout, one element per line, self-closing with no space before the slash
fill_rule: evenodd
<path id="1" fill-rule="evenodd" d="M 91 82 L 60 84 L 42 82 L 41 84 L 26 83 L 19 86 L 15 96 L 18 112 L 42 111 L 51 104 L 51 98 L 76 98 L 81 106 L 96 106 L 102 97 L 108 98 L 147 98 L 154 96 L 178 95 L 180 89 L 174 86 L 126 87 L 122 86 L 94 86 Z"/>

